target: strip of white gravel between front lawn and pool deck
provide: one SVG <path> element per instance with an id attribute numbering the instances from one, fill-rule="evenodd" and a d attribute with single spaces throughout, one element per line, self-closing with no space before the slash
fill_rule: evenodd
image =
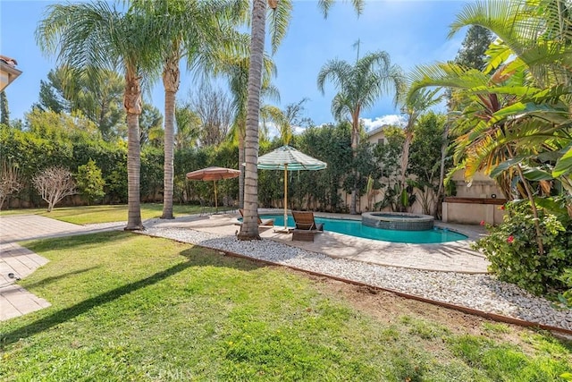
<path id="1" fill-rule="evenodd" d="M 527 293 L 514 284 L 501 282 L 491 275 L 424 271 L 333 259 L 281 242 L 264 239 L 245 242 L 235 236 L 198 232 L 188 228 L 151 227 L 142 233 L 227 250 L 254 259 L 338 276 L 433 301 L 572 330 L 572 310 L 561 310 L 551 301 Z"/>

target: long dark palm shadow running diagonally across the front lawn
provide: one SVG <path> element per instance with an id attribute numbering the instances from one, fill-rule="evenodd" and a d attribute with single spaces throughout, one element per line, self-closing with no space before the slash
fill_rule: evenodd
<path id="1" fill-rule="evenodd" d="M 22 338 L 28 338 L 32 335 L 41 333 L 51 327 L 55 327 L 59 324 L 62 324 L 72 318 L 76 318 L 81 314 L 87 312 L 88 310 L 96 308 L 97 306 L 103 305 L 110 301 L 114 301 L 126 294 L 138 291 L 139 289 L 145 288 L 149 285 L 156 284 L 164 280 L 166 277 L 174 276 L 178 273 L 181 273 L 182 271 L 184 271 L 189 267 L 206 267 L 206 266 L 231 267 L 237 270 L 244 270 L 244 271 L 251 271 L 259 267 L 265 267 L 255 261 L 250 261 L 248 259 L 237 259 L 237 258 L 227 257 L 216 253 L 214 250 L 208 250 L 199 247 L 195 247 L 190 250 L 183 250 L 181 251 L 181 256 L 183 256 L 186 259 L 186 261 L 181 262 L 180 264 L 177 264 L 175 266 L 169 267 L 167 269 L 164 269 L 161 272 L 157 272 L 154 275 L 142 278 L 139 281 L 122 285 L 109 292 L 105 292 L 97 295 L 96 297 L 92 297 L 88 300 L 76 303 L 75 305 L 69 308 L 55 311 L 49 316 L 46 316 L 45 318 L 39 318 L 38 320 L 24 327 L 19 327 L 11 332 L 0 333 L 0 349 L 4 349 L 6 345 L 16 343 Z M 82 269 L 78 272 L 71 272 L 70 274 L 81 273 L 88 270 L 89 268 Z M 52 278 L 51 281 L 54 281 L 55 278 L 59 277 L 61 276 L 51 277 Z M 38 284 L 46 283 L 46 280 L 39 281 Z"/>

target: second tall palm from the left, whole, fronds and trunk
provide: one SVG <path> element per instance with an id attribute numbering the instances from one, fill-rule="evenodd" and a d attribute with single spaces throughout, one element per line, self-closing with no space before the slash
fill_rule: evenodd
<path id="1" fill-rule="evenodd" d="M 172 182 L 175 98 L 181 83 L 181 59 L 187 68 L 207 71 L 219 52 L 228 47 L 234 24 L 245 19 L 242 2 L 188 0 L 135 0 L 156 22 L 156 43 L 161 47 L 164 85 L 164 219 L 172 219 Z M 238 39 L 237 41 L 240 41 Z"/>

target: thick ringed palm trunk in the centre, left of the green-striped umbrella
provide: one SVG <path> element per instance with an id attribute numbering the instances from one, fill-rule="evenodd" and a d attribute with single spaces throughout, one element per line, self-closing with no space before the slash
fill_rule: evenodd
<path id="1" fill-rule="evenodd" d="M 248 112 L 245 142 L 246 171 L 244 182 L 244 218 L 239 240 L 260 240 L 258 233 L 258 118 L 262 61 L 265 49 L 266 0 L 254 0 L 250 37 L 250 66 L 248 67 Z"/>

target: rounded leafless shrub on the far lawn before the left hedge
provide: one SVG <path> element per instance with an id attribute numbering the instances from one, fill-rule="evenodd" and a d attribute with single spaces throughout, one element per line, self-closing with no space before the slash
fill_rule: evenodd
<path id="1" fill-rule="evenodd" d="M 42 199 L 47 202 L 47 212 L 63 198 L 78 193 L 71 173 L 63 167 L 49 167 L 42 174 L 34 176 L 32 183 Z"/>

